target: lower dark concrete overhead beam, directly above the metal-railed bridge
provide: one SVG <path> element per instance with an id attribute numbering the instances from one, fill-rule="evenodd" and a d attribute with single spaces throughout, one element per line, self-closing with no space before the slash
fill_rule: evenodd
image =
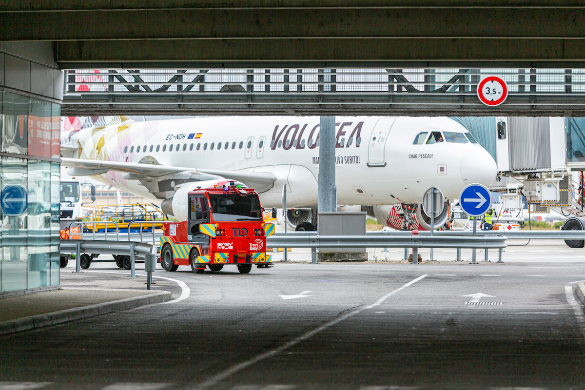
<path id="1" fill-rule="evenodd" d="M 61 68 L 582 67 L 577 39 L 239 39 L 59 42 Z"/>

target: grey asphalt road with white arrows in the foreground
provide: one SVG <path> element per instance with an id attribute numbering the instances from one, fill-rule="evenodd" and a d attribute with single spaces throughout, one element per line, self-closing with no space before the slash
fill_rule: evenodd
<path id="1" fill-rule="evenodd" d="M 161 279 L 175 301 L 0 337 L 0 390 L 583 389 L 585 251 L 533 247 L 504 264 L 157 271 L 190 294 Z"/>

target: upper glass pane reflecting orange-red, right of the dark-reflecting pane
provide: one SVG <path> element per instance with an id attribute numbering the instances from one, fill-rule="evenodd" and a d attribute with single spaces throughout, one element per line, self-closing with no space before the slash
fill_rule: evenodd
<path id="1" fill-rule="evenodd" d="M 29 99 L 29 150 L 30 156 L 51 157 L 52 137 L 51 103 Z"/>

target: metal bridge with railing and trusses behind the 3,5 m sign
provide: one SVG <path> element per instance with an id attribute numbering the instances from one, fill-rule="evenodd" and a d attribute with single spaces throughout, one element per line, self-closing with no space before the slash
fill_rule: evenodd
<path id="1" fill-rule="evenodd" d="M 498 75 L 498 106 L 477 85 Z M 63 115 L 585 116 L 585 69 L 70 70 Z"/>

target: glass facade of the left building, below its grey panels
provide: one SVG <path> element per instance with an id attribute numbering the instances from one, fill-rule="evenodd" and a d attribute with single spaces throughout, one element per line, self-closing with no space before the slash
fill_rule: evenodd
<path id="1" fill-rule="evenodd" d="M 60 105 L 4 91 L 0 114 L 0 293 L 59 285 Z"/>

